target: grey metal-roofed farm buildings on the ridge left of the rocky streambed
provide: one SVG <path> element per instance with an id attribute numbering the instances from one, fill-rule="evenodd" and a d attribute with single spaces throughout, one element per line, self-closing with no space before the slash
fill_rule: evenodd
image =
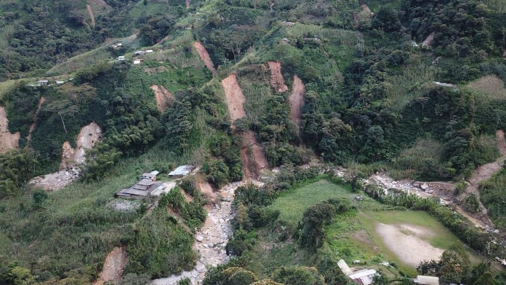
<path id="1" fill-rule="evenodd" d="M 188 175 L 194 169 L 191 165 L 181 165 L 174 171 L 168 174 L 170 177 L 182 177 Z M 121 189 L 116 193 L 116 197 L 144 199 L 150 197 L 157 197 L 163 193 L 171 191 L 176 186 L 176 183 L 165 184 L 157 182 L 157 175 L 160 172 L 154 170 L 149 173 L 142 174 L 141 179 L 130 188 Z M 168 187 L 167 187 L 168 185 Z"/>

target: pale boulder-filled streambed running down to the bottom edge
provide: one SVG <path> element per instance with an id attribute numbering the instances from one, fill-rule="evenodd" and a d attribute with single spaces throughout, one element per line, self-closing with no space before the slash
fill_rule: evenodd
<path id="1" fill-rule="evenodd" d="M 233 183 L 219 190 L 221 201 L 207 211 L 207 219 L 200 232 L 195 234 L 193 249 L 200 253 L 200 259 L 191 271 L 184 271 L 166 278 L 154 279 L 155 285 L 174 285 L 183 278 L 190 278 L 192 284 L 200 284 L 204 279 L 208 266 L 217 266 L 227 262 L 225 246 L 232 235 L 230 220 L 234 213 L 232 201 L 237 187 L 243 183 Z M 219 199 L 220 200 L 220 199 Z"/>

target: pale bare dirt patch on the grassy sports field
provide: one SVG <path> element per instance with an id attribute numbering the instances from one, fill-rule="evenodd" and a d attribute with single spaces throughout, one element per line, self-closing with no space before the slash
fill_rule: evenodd
<path id="1" fill-rule="evenodd" d="M 388 249 L 407 265 L 416 267 L 425 260 L 439 260 L 444 250 L 421 239 L 433 235 L 431 230 L 412 225 L 402 226 L 404 228 L 378 223 L 375 229 Z M 410 230 L 406 230 L 406 227 Z"/>

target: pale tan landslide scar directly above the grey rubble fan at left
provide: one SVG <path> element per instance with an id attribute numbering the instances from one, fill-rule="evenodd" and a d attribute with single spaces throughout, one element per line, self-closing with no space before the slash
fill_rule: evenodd
<path id="1" fill-rule="evenodd" d="M 63 143 L 62 162 L 60 169 L 75 167 L 85 164 L 85 151 L 93 148 L 102 140 L 102 129 L 96 123 L 91 123 L 81 128 L 77 135 L 76 148 L 70 146 L 70 142 Z"/>

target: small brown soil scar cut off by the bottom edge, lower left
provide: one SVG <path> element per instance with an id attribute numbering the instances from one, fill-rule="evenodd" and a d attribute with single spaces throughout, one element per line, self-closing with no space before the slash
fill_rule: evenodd
<path id="1" fill-rule="evenodd" d="M 126 250 L 124 246 L 114 247 L 105 258 L 104 267 L 102 272 L 99 274 L 99 278 L 94 282 L 94 285 L 101 285 L 105 282 L 112 281 L 114 284 L 118 284 L 121 281 L 123 275 L 123 269 L 128 262 L 126 256 Z"/>

